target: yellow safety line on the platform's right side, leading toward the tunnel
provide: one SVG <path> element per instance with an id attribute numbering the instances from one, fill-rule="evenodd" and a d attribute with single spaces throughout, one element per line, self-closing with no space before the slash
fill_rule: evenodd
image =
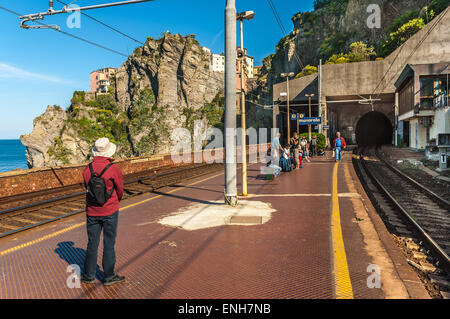
<path id="1" fill-rule="evenodd" d="M 334 165 L 333 171 L 333 214 L 331 217 L 334 285 L 337 299 L 353 299 L 352 283 L 350 281 L 347 256 L 345 254 L 344 240 L 342 237 L 339 196 L 337 190 L 337 172 L 338 163 Z"/>

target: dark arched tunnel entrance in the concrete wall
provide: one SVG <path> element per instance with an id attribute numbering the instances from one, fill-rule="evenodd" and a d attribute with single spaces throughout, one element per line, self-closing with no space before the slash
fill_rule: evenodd
<path id="1" fill-rule="evenodd" d="M 356 124 L 356 142 L 360 146 L 391 144 L 391 121 L 380 112 L 366 113 Z"/>

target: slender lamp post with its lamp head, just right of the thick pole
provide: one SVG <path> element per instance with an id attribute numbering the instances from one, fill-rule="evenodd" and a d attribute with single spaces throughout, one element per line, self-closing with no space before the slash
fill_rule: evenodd
<path id="1" fill-rule="evenodd" d="M 242 196 L 247 196 L 247 134 L 246 134 L 246 124 L 245 124 L 245 58 L 246 54 L 244 51 L 244 19 L 250 21 L 255 17 L 255 13 L 253 11 L 245 11 L 238 13 L 236 15 L 236 20 L 240 22 L 240 30 L 241 30 L 241 47 L 240 52 L 238 54 L 239 62 L 240 62 L 240 71 L 241 71 L 241 127 L 242 127 Z"/>

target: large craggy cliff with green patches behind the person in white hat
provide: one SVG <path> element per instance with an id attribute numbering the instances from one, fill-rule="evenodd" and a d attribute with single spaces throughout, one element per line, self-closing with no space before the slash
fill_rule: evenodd
<path id="1" fill-rule="evenodd" d="M 34 120 L 21 136 L 29 167 L 85 162 L 103 136 L 122 158 L 169 152 L 173 129 L 211 124 L 211 108 L 220 115 L 224 74 L 210 71 L 209 61 L 192 35 L 148 38 L 117 69 L 108 94 L 75 92 L 68 110 L 48 107 Z"/>

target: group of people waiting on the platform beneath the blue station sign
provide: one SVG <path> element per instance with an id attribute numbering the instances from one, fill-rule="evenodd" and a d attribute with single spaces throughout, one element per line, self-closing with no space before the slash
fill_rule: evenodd
<path id="1" fill-rule="evenodd" d="M 313 136 L 308 142 L 304 136 L 299 137 L 295 132 L 289 143 L 283 147 L 280 144 L 280 133 L 278 133 L 272 140 L 270 151 L 271 165 L 275 168 L 278 166 L 283 172 L 290 172 L 293 169 L 302 168 L 303 160 L 310 162 L 309 157 L 317 155 L 317 138 Z"/>

